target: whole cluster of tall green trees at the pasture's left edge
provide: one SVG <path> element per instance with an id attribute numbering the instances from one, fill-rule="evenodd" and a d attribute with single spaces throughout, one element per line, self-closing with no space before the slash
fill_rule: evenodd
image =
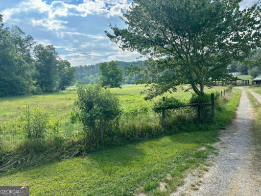
<path id="1" fill-rule="evenodd" d="M 0 97 L 65 90 L 75 71 L 52 45 L 37 45 L 17 25 L 4 28 L 0 15 Z"/>

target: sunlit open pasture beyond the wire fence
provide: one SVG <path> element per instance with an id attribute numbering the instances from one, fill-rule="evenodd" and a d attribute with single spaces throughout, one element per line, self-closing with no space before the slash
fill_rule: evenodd
<path id="1" fill-rule="evenodd" d="M 225 87 L 207 89 L 207 91 L 221 91 L 223 89 L 225 89 Z M 111 89 L 113 93 L 119 96 L 123 108 L 135 107 L 140 104 L 151 106 L 155 99 L 145 101 L 143 99 L 145 95 L 140 94 L 143 90 L 144 85 L 124 85 L 122 89 Z M 191 92 L 185 93 L 181 88 L 178 88 L 177 92 L 173 94 L 167 93 L 163 96 L 173 96 L 175 98 L 188 100 L 191 97 Z M 0 98 L 0 118 L 4 120 L 4 122 L 15 120 L 21 116 L 25 105 L 29 103 L 32 108 L 40 107 L 48 110 L 51 118 L 59 118 L 65 121 L 69 117 L 68 113 L 71 111 L 76 97 L 75 88 L 70 87 L 65 91 L 53 94 Z"/>

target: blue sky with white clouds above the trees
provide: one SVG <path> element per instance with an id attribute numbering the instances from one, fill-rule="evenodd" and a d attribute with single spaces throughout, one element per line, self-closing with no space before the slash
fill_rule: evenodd
<path id="1" fill-rule="evenodd" d="M 38 44 L 53 45 L 72 66 L 104 61 L 136 61 L 139 53 L 122 51 L 106 37 L 132 0 L 0 0 L 5 26 L 19 25 Z M 241 8 L 256 0 L 243 0 Z"/>

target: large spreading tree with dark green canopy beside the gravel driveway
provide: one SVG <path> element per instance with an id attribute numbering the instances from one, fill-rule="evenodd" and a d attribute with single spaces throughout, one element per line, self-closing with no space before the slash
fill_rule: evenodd
<path id="1" fill-rule="evenodd" d="M 148 98 L 185 83 L 202 95 L 204 85 L 227 76 L 232 60 L 260 47 L 260 2 L 241 10 L 241 1 L 133 0 L 121 18 L 127 27 L 110 24 L 113 33 L 105 32 L 121 49 L 148 57 L 133 69 L 152 84 Z"/>

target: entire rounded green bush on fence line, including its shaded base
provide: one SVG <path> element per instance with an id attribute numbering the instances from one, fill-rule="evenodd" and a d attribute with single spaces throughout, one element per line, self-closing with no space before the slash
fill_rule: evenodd
<path id="1" fill-rule="evenodd" d="M 119 98 L 98 84 L 85 86 L 79 84 L 77 94 L 75 106 L 78 110 L 71 112 L 71 120 L 73 123 L 79 121 L 83 124 L 83 131 L 86 134 L 84 145 L 98 145 L 96 141 L 100 141 L 102 145 L 103 134 L 107 136 L 110 134 L 107 131 L 119 128 L 121 114 Z"/>

